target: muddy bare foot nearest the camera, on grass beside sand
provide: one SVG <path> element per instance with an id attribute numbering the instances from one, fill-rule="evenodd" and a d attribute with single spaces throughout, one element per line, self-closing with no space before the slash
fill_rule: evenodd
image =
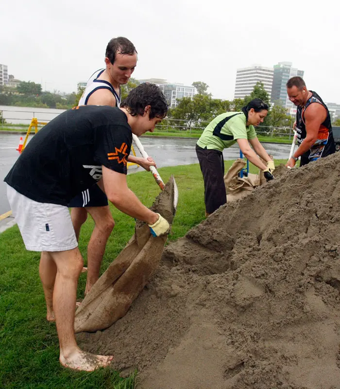
<path id="1" fill-rule="evenodd" d="M 62 354 L 59 357 L 59 361 L 64 367 L 81 371 L 105 368 L 110 365 L 113 359 L 113 355 L 95 355 L 80 349 L 69 354 L 67 358 Z"/>

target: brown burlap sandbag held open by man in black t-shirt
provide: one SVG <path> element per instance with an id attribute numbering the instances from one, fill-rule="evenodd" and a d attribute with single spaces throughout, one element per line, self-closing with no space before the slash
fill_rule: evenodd
<path id="1" fill-rule="evenodd" d="M 151 209 L 171 225 L 177 206 L 171 176 Z M 177 188 L 177 187 L 176 187 Z M 103 330 L 122 318 L 157 269 L 167 236 L 153 237 L 140 221 L 125 248 L 93 285 L 75 314 L 75 332 Z"/>

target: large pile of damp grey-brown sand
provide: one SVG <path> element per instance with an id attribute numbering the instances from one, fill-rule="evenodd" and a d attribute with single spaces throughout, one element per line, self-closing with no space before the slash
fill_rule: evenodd
<path id="1" fill-rule="evenodd" d="M 143 389 L 340 388 L 339 178 L 337 153 L 221 207 L 80 345 Z"/>

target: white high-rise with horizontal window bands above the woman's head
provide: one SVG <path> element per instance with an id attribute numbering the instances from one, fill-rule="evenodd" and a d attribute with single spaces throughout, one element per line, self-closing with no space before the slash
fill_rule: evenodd
<path id="1" fill-rule="evenodd" d="M 234 99 L 243 99 L 245 96 L 249 96 L 258 81 L 263 84 L 269 97 L 271 97 L 272 78 L 273 68 L 253 65 L 250 68 L 238 69 L 236 72 Z"/>

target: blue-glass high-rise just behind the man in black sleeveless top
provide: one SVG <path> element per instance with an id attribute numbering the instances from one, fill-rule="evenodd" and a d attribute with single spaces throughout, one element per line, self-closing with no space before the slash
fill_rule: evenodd
<path id="1" fill-rule="evenodd" d="M 287 95 L 287 81 L 289 78 L 295 76 L 304 77 L 304 71 L 292 68 L 292 65 L 291 62 L 279 62 L 277 65 L 274 65 L 274 77 L 272 81 L 271 102 L 276 103 L 279 101 L 281 106 L 288 109 L 295 108 L 295 106 L 289 101 Z"/>

